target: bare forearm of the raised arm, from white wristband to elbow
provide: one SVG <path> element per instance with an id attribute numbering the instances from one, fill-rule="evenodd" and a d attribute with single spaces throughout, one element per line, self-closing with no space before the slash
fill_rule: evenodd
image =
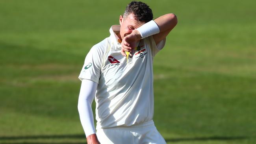
<path id="1" fill-rule="evenodd" d="M 173 13 L 168 13 L 168 14 L 162 15 L 162 16 L 154 19 L 154 21 L 158 25 L 158 27 L 160 29 L 160 33 L 163 31 L 172 30 L 178 23 L 178 19 L 177 19 L 176 15 L 174 15 Z"/>

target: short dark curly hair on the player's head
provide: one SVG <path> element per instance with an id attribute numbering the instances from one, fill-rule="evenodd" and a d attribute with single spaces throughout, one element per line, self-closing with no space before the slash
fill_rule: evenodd
<path id="1" fill-rule="evenodd" d="M 123 17 L 126 18 L 130 14 L 133 14 L 135 19 L 141 22 L 149 22 L 153 19 L 152 10 L 144 2 L 132 1 L 128 4 Z"/>

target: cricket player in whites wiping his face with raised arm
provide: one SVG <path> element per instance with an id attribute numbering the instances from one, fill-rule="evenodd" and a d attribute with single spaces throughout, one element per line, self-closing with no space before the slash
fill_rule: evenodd
<path id="1" fill-rule="evenodd" d="M 111 26 L 110 36 L 85 57 L 78 111 L 88 144 L 166 144 L 152 120 L 152 66 L 177 18 L 169 13 L 152 19 L 147 4 L 131 2 L 120 25 Z"/>

